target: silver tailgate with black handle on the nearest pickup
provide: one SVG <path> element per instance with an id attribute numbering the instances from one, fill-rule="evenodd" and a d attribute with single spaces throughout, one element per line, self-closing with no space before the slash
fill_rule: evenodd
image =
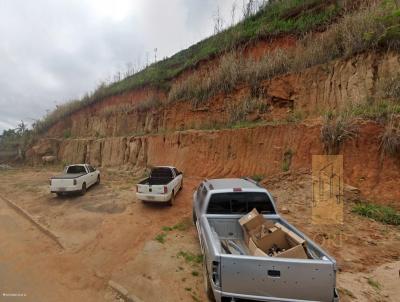
<path id="1" fill-rule="evenodd" d="M 222 291 L 278 299 L 333 301 L 335 271 L 322 260 L 221 257 Z"/>

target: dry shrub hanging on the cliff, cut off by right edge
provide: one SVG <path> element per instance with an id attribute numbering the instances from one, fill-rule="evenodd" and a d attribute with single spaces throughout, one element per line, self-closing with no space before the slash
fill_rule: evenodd
<path id="1" fill-rule="evenodd" d="M 381 135 L 380 150 L 382 156 L 388 155 L 394 158 L 400 157 L 400 121 L 391 118 Z"/>

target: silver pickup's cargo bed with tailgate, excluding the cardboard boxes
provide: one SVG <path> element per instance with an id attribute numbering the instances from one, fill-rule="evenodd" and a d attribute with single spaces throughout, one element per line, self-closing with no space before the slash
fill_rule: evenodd
<path id="1" fill-rule="evenodd" d="M 228 216 L 228 217 L 227 217 Z M 244 243 L 243 231 L 238 222 L 241 216 L 206 215 L 204 226 L 210 228 L 213 238 L 210 245 L 216 247 L 220 260 L 221 292 L 231 296 L 234 293 L 256 301 L 332 301 L 334 299 L 334 260 L 312 243 L 304 234 L 293 228 L 277 215 L 264 215 L 268 220 L 279 222 L 306 240 L 306 246 L 313 259 L 288 259 L 258 257 L 249 255 Z M 243 255 L 229 254 L 222 247 L 221 240 L 232 240 L 244 251 Z M 207 240 L 208 241 L 208 240 Z M 267 260 L 268 259 L 268 260 Z M 267 261 L 266 261 L 267 260 Z M 243 282 L 251 280 L 251 282 Z M 223 295 L 223 294 L 222 294 Z M 260 297 L 263 297 L 262 300 Z M 270 299 L 265 299 L 270 297 Z"/>

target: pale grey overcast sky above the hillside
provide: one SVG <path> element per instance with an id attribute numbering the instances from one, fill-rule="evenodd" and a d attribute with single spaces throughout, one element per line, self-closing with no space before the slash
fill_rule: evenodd
<path id="1" fill-rule="evenodd" d="M 81 97 L 127 63 L 210 36 L 243 0 L 0 0 L 0 133 Z"/>

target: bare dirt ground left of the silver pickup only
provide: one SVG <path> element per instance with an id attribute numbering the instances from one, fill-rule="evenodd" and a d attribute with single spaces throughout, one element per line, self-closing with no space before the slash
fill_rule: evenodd
<path id="1" fill-rule="evenodd" d="M 204 299 L 201 266 L 185 260 L 199 255 L 190 221 L 191 194 L 199 179 L 185 179 L 175 205 L 165 207 L 137 202 L 136 180 L 112 171 L 104 172 L 103 183 L 83 197 L 57 198 L 47 185 L 55 173 L 0 173 L 0 195 L 29 212 L 65 246 L 60 249 L 0 200 L 0 292 L 26 294 L 19 301 L 114 301 L 117 295 L 107 287 L 114 280 L 129 289 L 132 285 L 144 301 L 158 300 L 165 292 L 163 301 Z M 155 240 L 159 235 L 162 243 Z"/>

